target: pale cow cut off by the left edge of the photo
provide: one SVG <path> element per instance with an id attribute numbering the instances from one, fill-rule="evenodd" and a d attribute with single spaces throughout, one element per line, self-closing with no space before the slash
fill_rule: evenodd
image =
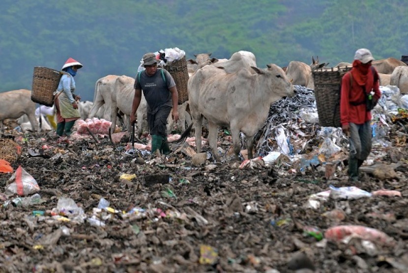
<path id="1" fill-rule="evenodd" d="M 38 131 L 38 122 L 35 119 L 35 103 L 31 101 L 31 91 L 19 89 L 0 93 L 1 127 L 4 119 L 18 119 L 24 114 L 29 117 L 31 130 Z"/>

